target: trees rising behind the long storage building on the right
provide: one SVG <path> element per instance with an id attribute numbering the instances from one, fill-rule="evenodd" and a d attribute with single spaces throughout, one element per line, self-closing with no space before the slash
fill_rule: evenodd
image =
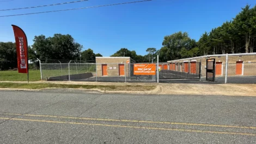
<path id="1" fill-rule="evenodd" d="M 256 48 L 256 5 L 242 10 L 231 21 L 222 26 L 212 28 L 200 36 L 198 41 L 191 39 L 187 32 L 177 32 L 164 36 L 162 47 L 148 48 L 147 55 L 136 55 L 135 51 L 121 48 L 112 57 L 126 56 L 136 62 L 150 62 L 150 57 L 159 55 L 159 61 L 192 58 L 208 54 L 253 53 Z"/>

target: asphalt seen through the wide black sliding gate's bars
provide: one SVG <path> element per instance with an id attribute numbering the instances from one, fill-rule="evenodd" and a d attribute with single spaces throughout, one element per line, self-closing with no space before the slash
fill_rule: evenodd
<path id="1" fill-rule="evenodd" d="M 172 71 L 172 70 L 161 70 L 159 72 L 159 78 L 174 78 L 174 79 L 199 79 L 200 75 L 193 74 L 193 73 L 185 73 L 185 72 L 178 72 L 178 71 Z"/>

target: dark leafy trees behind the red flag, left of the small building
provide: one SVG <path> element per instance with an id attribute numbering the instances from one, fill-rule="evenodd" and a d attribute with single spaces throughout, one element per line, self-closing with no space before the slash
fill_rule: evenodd
<path id="1" fill-rule="evenodd" d="M 34 37 L 32 46 L 28 46 L 28 59 L 33 63 L 31 68 L 38 67 L 38 60 L 47 62 L 68 62 L 69 60 L 81 62 L 95 62 L 95 57 L 102 57 L 92 49 L 82 51 L 82 45 L 67 34 L 54 34 L 53 37 L 39 35 Z M 0 70 L 17 67 L 17 54 L 15 42 L 0 42 Z"/>

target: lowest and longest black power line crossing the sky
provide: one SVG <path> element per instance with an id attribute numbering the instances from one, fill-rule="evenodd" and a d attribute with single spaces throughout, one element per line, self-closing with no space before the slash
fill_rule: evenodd
<path id="1" fill-rule="evenodd" d="M 147 2 L 147 1 L 153 1 L 153 0 L 144 0 L 144 1 L 135 1 L 135 2 L 126 2 L 126 3 L 115 3 L 115 4 L 107 4 L 107 5 L 97 5 L 97 6 L 92 6 L 92 7 L 83 7 L 83 8 L 75 8 L 75 9 L 64 9 L 64 10 L 53 10 L 53 11 L 33 12 L 33 13 L 27 13 L 27 14 L 5 15 L 5 16 L 0 16 L 0 17 L 21 16 L 21 15 L 33 15 L 33 14 L 42 14 L 42 13 L 48 13 L 48 12 L 77 10 L 77 9 L 89 9 L 89 8 L 107 7 L 107 6 L 112 6 L 112 5 L 130 4 L 130 3 L 140 3 L 140 2 Z"/>

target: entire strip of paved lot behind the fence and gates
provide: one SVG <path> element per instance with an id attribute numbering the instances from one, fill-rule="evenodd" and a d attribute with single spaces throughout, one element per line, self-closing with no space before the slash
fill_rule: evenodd
<path id="1" fill-rule="evenodd" d="M 87 73 L 85 73 L 87 74 Z M 72 74 L 71 81 L 81 82 L 147 82 L 155 83 L 156 76 L 117 76 L 117 77 L 89 77 L 80 76 L 81 74 Z M 50 80 L 68 80 L 68 76 L 51 77 Z M 225 82 L 225 77 L 216 77 L 215 82 L 206 82 L 205 77 L 199 79 L 199 74 L 191 74 L 184 72 L 176 72 L 170 70 L 162 70 L 159 72 L 160 83 L 185 83 L 185 84 L 221 84 Z M 228 83 L 234 84 L 256 84 L 256 76 L 228 76 Z"/>

